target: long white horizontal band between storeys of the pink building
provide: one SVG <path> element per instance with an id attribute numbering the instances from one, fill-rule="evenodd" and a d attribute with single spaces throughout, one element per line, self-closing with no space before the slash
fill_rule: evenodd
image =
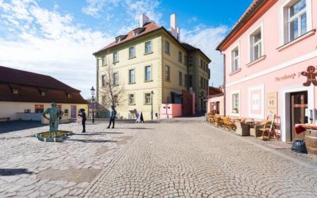
<path id="1" fill-rule="evenodd" d="M 226 84 L 226 88 L 234 86 L 234 85 L 237 85 L 239 83 L 243 83 L 243 82 L 248 81 L 248 80 L 252 80 L 254 78 L 258 78 L 260 76 L 264 76 L 264 75 L 272 73 L 274 71 L 278 71 L 280 69 L 284 69 L 286 67 L 292 66 L 292 65 L 300 63 L 300 62 L 304 62 L 306 60 L 309 60 L 309 59 L 312 59 L 312 58 L 315 58 L 315 57 L 317 57 L 317 50 L 315 50 L 313 52 L 310 52 L 310 53 L 307 53 L 305 55 L 299 56 L 299 57 L 294 58 L 292 60 L 289 60 L 287 62 L 281 63 L 279 65 L 272 66 L 269 69 L 265 69 L 265 70 L 263 70 L 261 72 L 258 72 L 256 74 L 250 75 L 250 76 L 245 77 L 245 78 L 242 78 L 242 79 L 237 80 L 235 82 L 228 83 L 228 84 Z"/>

